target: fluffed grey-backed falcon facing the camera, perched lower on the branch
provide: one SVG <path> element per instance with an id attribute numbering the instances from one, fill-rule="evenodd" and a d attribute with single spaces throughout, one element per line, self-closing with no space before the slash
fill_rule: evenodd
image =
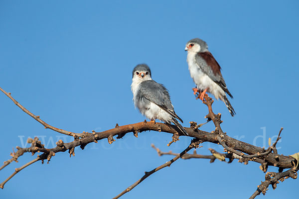
<path id="1" fill-rule="evenodd" d="M 176 119 L 183 122 L 174 112 L 166 88 L 151 79 L 149 66 L 139 64 L 133 70 L 132 85 L 135 107 L 151 121 L 159 119 L 167 124 L 174 123 L 179 130 L 188 135 Z"/>

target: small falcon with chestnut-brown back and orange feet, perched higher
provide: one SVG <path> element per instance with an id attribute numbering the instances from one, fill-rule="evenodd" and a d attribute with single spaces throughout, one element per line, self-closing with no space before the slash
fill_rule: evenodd
<path id="1" fill-rule="evenodd" d="M 193 89 L 194 94 L 199 92 L 200 100 L 204 100 L 206 92 L 213 94 L 217 100 L 220 98 L 225 103 L 231 115 L 234 116 L 236 112 L 225 93 L 231 98 L 233 96 L 226 87 L 220 72 L 221 68 L 208 50 L 207 43 L 198 38 L 191 39 L 187 42 L 185 51 L 188 51 L 189 72 L 196 84 L 196 89 Z"/>

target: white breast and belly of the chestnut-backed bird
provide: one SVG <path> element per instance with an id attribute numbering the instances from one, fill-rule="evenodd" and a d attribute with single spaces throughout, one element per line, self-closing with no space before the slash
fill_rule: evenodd
<path id="1" fill-rule="evenodd" d="M 225 95 L 225 92 L 200 69 L 196 63 L 195 55 L 195 52 L 188 52 L 187 55 L 188 69 L 191 78 L 196 84 L 198 90 L 203 91 L 209 88 L 208 92 L 213 94 L 218 100 L 220 96 Z"/>

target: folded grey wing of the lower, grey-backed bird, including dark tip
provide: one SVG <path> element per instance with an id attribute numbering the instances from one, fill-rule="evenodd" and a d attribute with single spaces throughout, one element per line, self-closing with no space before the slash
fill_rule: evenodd
<path id="1" fill-rule="evenodd" d="M 146 98 L 152 103 L 155 103 L 160 108 L 168 112 L 171 116 L 183 122 L 182 119 L 179 118 L 179 116 L 177 116 L 177 114 L 174 112 L 169 93 L 163 85 L 158 84 L 153 80 L 144 81 L 140 83 L 137 95 L 141 98 Z"/>

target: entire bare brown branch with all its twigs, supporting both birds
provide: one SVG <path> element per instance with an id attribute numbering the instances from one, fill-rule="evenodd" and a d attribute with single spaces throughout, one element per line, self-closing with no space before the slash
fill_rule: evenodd
<path id="1" fill-rule="evenodd" d="M 51 157 L 55 155 L 55 153 L 58 152 L 65 152 L 68 150 L 70 156 L 75 155 L 74 149 L 75 147 L 80 146 L 81 149 L 84 149 L 84 147 L 92 142 L 98 142 L 98 140 L 102 140 L 107 138 L 108 142 L 112 144 L 115 139 L 114 136 L 117 135 L 117 139 L 122 138 L 125 136 L 127 133 L 133 132 L 133 134 L 138 137 L 139 132 L 147 131 L 147 130 L 153 130 L 153 131 L 159 131 L 159 132 L 166 132 L 166 133 L 171 133 L 172 134 L 172 141 L 169 142 L 168 146 L 179 140 L 179 136 L 182 136 L 181 132 L 175 125 L 170 125 L 170 124 L 164 124 L 164 123 L 158 123 L 158 122 L 147 122 L 146 120 L 143 122 L 135 123 L 135 124 L 128 124 L 124 126 L 119 126 L 116 124 L 116 126 L 112 129 L 103 131 L 103 132 L 95 132 L 93 131 L 92 133 L 88 132 L 83 132 L 83 133 L 73 133 L 69 131 L 65 131 L 62 129 L 55 128 L 47 123 L 45 123 L 43 120 L 39 118 L 39 116 L 35 116 L 32 114 L 30 111 L 28 111 L 26 108 L 24 108 L 22 105 L 20 105 L 16 100 L 14 100 L 9 93 L 6 93 L 3 91 L 1 88 L 0 90 L 14 103 L 20 107 L 24 112 L 26 112 L 28 115 L 33 117 L 35 120 L 37 120 L 39 123 L 43 124 L 45 128 L 52 129 L 56 132 L 66 134 L 66 135 L 71 135 L 74 137 L 74 141 L 69 142 L 69 143 L 64 143 L 62 140 L 59 140 L 56 142 L 56 147 L 51 148 L 51 149 L 46 149 L 44 148 L 44 145 L 41 144 L 41 142 L 38 140 L 38 138 L 34 138 L 31 140 L 28 140 L 28 143 L 31 143 L 31 146 L 28 148 L 20 148 L 16 147 L 17 151 L 11 153 L 12 158 L 5 161 L 4 164 L 0 167 L 0 170 L 2 170 L 5 166 L 10 164 L 11 162 L 15 161 L 17 162 L 17 159 L 22 156 L 26 152 L 31 152 L 32 155 L 34 153 L 39 153 L 41 152 L 42 154 L 39 155 L 37 158 L 34 160 L 28 162 L 27 164 L 23 165 L 22 167 L 18 168 L 13 172 L 12 175 L 10 175 L 3 183 L 0 184 L 0 188 L 3 189 L 4 184 L 7 183 L 17 172 L 21 171 L 22 169 L 26 168 L 27 166 L 33 164 L 34 162 L 37 161 L 43 161 L 48 160 L 50 161 Z M 210 159 L 210 161 L 214 161 L 215 158 L 218 157 L 218 159 L 223 160 L 225 158 L 229 158 L 230 162 L 233 159 L 239 159 L 239 161 L 243 162 L 248 162 L 248 161 L 254 161 L 258 162 L 262 165 L 262 170 L 264 172 L 267 171 L 268 166 L 275 166 L 279 168 L 279 171 L 282 172 L 283 169 L 290 169 L 293 168 L 292 170 L 288 170 L 287 173 L 267 173 L 272 179 L 269 179 L 269 175 L 266 177 L 266 181 L 263 182 L 260 185 L 260 191 L 263 192 L 268 188 L 270 184 L 275 185 L 277 184 L 278 180 L 282 180 L 282 178 L 285 177 L 292 177 L 295 179 L 295 176 L 297 177 L 297 171 L 298 169 L 294 169 L 294 163 L 297 163 L 297 160 L 293 157 L 290 156 L 285 156 L 285 155 L 279 155 L 277 153 L 276 149 L 276 144 L 278 143 L 278 140 L 280 139 L 280 134 L 282 132 L 282 129 L 280 130 L 280 133 L 278 135 L 277 140 L 273 143 L 272 146 L 270 146 L 267 150 L 261 147 L 257 147 L 251 144 L 248 144 L 246 142 L 242 142 L 239 140 L 236 140 L 234 138 L 229 137 L 226 133 L 223 132 L 221 129 L 220 124 L 222 123 L 221 121 L 221 114 L 218 113 L 217 115 L 213 113 L 212 110 L 212 103 L 213 100 L 209 97 L 205 97 L 204 103 L 208 106 L 209 113 L 206 115 L 206 118 L 208 121 L 212 120 L 214 125 L 215 125 L 215 130 L 212 131 L 211 133 L 199 130 L 198 128 L 202 125 L 199 124 L 197 125 L 196 122 L 190 122 L 190 128 L 184 127 L 185 130 L 188 132 L 189 137 L 196 138 L 196 140 L 200 140 L 200 142 L 210 142 L 210 143 L 215 143 L 215 144 L 221 144 L 224 147 L 224 151 L 227 152 L 226 154 L 221 154 L 216 152 L 213 149 L 210 149 L 212 152 L 212 156 L 202 156 L 198 154 L 187 154 L 187 152 L 191 149 L 190 146 L 188 146 L 183 152 L 180 154 L 174 154 L 172 152 L 164 153 L 164 154 L 169 154 L 169 155 L 175 155 L 175 157 L 170 160 L 170 162 L 161 165 L 160 167 L 155 168 L 154 170 L 148 172 L 145 174 L 143 178 L 141 178 L 139 181 L 137 181 L 135 184 L 130 186 L 128 189 L 126 189 L 124 192 L 122 192 L 119 196 L 122 196 L 123 194 L 127 193 L 128 191 L 132 190 L 135 186 L 137 186 L 139 183 L 141 183 L 144 179 L 146 179 L 149 175 L 152 173 L 164 168 L 165 166 L 169 166 L 172 162 L 175 160 L 182 158 L 182 159 L 188 159 L 188 158 L 206 158 Z M 193 148 L 194 146 L 192 146 Z M 156 149 L 157 150 L 157 149 Z M 160 152 L 162 154 L 162 152 Z M 217 157 L 216 157 L 217 156 Z M 229 163 L 230 163 L 229 162 Z M 169 165 L 168 165 L 169 164 Z M 292 174 L 292 172 L 293 174 Z M 259 189 L 256 193 L 259 194 L 261 193 Z M 265 191 L 266 192 L 266 191 Z M 253 197 L 255 197 L 253 195 Z"/>

